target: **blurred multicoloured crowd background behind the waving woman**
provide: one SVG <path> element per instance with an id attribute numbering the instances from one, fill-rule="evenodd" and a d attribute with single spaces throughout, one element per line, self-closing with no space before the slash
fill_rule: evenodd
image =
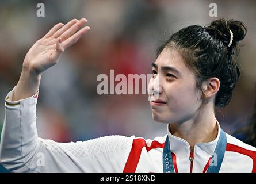
<path id="1" fill-rule="evenodd" d="M 45 17 L 36 16 L 44 3 Z M 152 120 L 147 95 L 98 95 L 97 75 L 151 74 L 156 48 L 185 26 L 207 25 L 216 18 L 243 21 L 248 33 L 240 55 L 241 78 L 230 104 L 216 112 L 221 127 L 234 133 L 254 113 L 256 83 L 256 1 L 0 1 L 0 127 L 4 101 L 16 86 L 29 48 L 58 22 L 85 17 L 91 28 L 44 72 L 37 104 L 39 136 L 77 141 L 105 135 L 154 139 L 166 135 L 166 124 Z"/>

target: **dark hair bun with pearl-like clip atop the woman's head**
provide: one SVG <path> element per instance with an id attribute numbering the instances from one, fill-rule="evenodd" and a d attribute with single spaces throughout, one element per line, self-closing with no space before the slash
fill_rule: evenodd
<path id="1" fill-rule="evenodd" d="M 224 45 L 228 47 L 231 40 L 231 32 L 233 33 L 233 40 L 230 45 L 232 53 L 235 49 L 238 48 L 238 42 L 243 40 L 246 36 L 247 29 L 243 22 L 221 18 L 215 21 L 212 21 L 210 25 L 204 27 L 207 32 L 217 40 L 221 40 Z"/>

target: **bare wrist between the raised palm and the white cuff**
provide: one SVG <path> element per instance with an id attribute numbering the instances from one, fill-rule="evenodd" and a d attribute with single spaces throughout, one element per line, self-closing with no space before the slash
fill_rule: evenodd
<path id="1" fill-rule="evenodd" d="M 40 80 L 41 74 L 23 68 L 18 84 L 13 91 L 13 97 L 9 101 L 18 101 L 36 94 L 39 90 Z"/>

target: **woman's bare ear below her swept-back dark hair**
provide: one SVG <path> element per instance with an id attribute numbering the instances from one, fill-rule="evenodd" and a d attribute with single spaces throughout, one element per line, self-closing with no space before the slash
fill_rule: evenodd
<path id="1" fill-rule="evenodd" d="M 210 78 L 204 83 L 204 97 L 209 98 L 217 94 L 220 89 L 220 80 L 216 77 Z"/>

